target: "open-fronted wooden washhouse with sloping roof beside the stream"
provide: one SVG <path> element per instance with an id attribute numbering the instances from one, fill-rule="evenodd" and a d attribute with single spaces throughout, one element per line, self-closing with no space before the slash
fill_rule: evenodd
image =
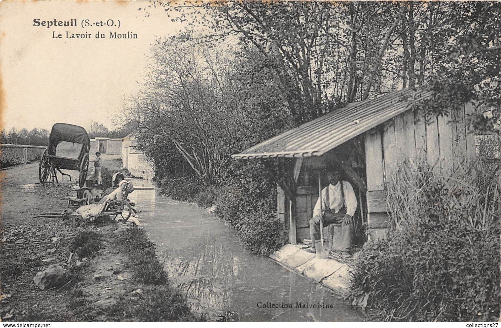
<path id="1" fill-rule="evenodd" d="M 388 180 L 405 159 L 428 161 L 439 173 L 465 167 L 475 156 L 474 135 L 465 120 L 470 103 L 448 116 L 425 118 L 432 91 L 406 89 L 373 100 L 351 103 L 266 140 L 232 157 L 277 158 L 278 216 L 283 243 L 310 240 L 319 190 L 326 172 L 336 170 L 358 198 L 355 243 L 384 237 L 390 225 L 386 205 Z M 429 116 L 429 115 L 428 115 Z M 324 227 L 324 245 L 336 249 L 336 228 Z"/>

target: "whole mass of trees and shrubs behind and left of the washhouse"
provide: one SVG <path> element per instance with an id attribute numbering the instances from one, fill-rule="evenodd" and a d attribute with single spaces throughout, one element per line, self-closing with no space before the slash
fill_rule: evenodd
<path id="1" fill-rule="evenodd" d="M 156 2 L 148 10 L 159 7 L 178 12 L 187 32 L 152 48 L 151 73 L 125 116 L 139 125 L 158 177 L 187 174 L 231 190 L 218 214 L 257 252 L 275 247 L 277 163 L 231 154 L 348 103 L 424 85 L 437 91 L 429 112 L 473 100 L 472 123 L 497 126 L 501 3 Z"/>

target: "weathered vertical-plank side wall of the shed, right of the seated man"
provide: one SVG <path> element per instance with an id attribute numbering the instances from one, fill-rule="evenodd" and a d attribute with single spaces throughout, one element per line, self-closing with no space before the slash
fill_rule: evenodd
<path id="1" fill-rule="evenodd" d="M 445 175 L 474 159 L 474 135 L 465 123 L 472 110 L 466 104 L 449 116 L 428 120 L 422 111 L 407 111 L 365 134 L 369 233 L 388 223 L 387 181 L 405 158 L 426 159 L 435 165 L 435 174 Z"/>

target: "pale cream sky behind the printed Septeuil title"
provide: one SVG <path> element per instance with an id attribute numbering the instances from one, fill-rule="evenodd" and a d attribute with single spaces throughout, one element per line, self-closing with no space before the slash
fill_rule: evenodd
<path id="1" fill-rule="evenodd" d="M 136 93 L 147 74 L 151 45 L 183 29 L 171 22 L 163 8 L 148 9 L 148 16 L 138 10 L 148 5 L 134 1 L 1 2 L 2 127 L 50 130 L 63 122 L 88 128 L 95 121 L 113 128 L 124 97 Z M 78 26 L 42 25 L 54 20 L 76 20 Z M 98 32 L 105 38 L 96 39 Z M 137 39 L 110 39 L 110 32 L 137 34 Z M 72 34 L 91 37 L 67 38 Z"/>

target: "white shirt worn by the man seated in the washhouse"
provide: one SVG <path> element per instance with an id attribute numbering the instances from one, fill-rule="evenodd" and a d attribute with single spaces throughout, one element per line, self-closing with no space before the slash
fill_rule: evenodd
<path id="1" fill-rule="evenodd" d="M 329 202 L 327 204 L 327 191 L 329 191 Z M 355 191 L 353 191 L 353 187 L 348 181 L 343 181 L 343 191 L 344 191 L 344 199 L 341 195 L 341 181 L 339 181 L 335 186 L 329 184 L 327 187 L 322 189 L 322 216 L 324 215 L 327 209 L 331 209 L 336 213 L 343 207 L 343 204 L 346 205 L 346 214 L 353 216 L 355 215 L 355 211 L 357 210 L 357 196 L 355 195 Z M 320 215 L 320 199 L 317 199 L 317 203 L 315 204 L 315 208 L 313 209 L 313 217 L 321 216 Z"/>

